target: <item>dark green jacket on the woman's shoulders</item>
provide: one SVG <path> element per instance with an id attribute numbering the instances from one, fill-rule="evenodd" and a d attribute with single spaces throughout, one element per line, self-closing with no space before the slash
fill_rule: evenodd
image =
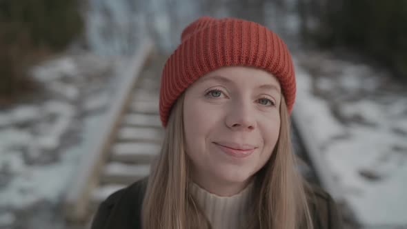
<path id="1" fill-rule="evenodd" d="M 146 185 L 147 179 L 142 179 L 110 195 L 99 206 L 92 229 L 141 229 Z M 313 188 L 313 192 L 310 210 L 315 229 L 342 228 L 341 217 L 330 195 L 320 188 Z"/>

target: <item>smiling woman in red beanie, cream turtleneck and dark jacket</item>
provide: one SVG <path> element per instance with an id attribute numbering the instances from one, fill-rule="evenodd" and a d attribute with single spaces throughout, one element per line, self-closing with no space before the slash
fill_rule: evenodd
<path id="1" fill-rule="evenodd" d="M 150 176 L 101 203 L 92 228 L 341 228 L 295 169 L 290 53 L 241 19 L 201 17 L 163 68 L 166 135 Z"/>

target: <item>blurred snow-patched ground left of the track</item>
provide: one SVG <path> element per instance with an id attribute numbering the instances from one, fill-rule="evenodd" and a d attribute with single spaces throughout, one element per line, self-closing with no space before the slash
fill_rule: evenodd
<path id="1" fill-rule="evenodd" d="M 47 221 L 61 228 L 61 220 L 52 223 L 61 218 L 61 196 L 101 125 L 121 63 L 88 52 L 62 54 L 33 70 L 44 91 L 1 108 L 0 228 L 44 228 Z"/>

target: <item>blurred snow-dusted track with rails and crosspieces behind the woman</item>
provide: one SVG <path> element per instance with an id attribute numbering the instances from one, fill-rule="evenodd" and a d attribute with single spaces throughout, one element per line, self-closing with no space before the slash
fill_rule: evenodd
<path id="1" fill-rule="evenodd" d="M 103 130 L 81 160 L 66 194 L 64 210 L 70 222 L 88 222 L 108 195 L 146 177 L 152 159 L 159 154 L 164 135 L 159 120 L 159 80 L 166 57 L 152 54 L 154 47 L 148 40 L 140 47 L 103 121 Z M 315 155 L 317 148 L 306 137 L 300 120 L 293 117 L 292 137 L 301 159 L 299 170 L 310 183 L 336 193 L 338 189 L 330 181 L 324 161 Z"/>

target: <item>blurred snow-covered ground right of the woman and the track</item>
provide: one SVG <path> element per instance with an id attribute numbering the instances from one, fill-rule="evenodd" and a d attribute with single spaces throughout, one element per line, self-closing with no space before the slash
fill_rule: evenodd
<path id="1" fill-rule="evenodd" d="M 296 110 L 368 228 L 407 228 L 407 86 L 383 70 L 299 52 Z"/>

